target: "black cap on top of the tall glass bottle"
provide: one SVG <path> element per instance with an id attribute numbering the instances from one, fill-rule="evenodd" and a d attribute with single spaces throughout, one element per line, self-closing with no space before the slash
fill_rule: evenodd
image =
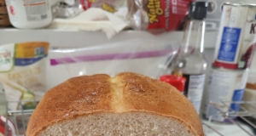
<path id="1" fill-rule="evenodd" d="M 207 2 L 191 2 L 189 5 L 189 19 L 204 20 L 207 18 Z"/>

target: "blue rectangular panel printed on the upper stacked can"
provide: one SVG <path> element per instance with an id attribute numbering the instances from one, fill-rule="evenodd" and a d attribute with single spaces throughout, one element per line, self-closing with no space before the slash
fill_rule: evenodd
<path id="1" fill-rule="evenodd" d="M 228 62 L 236 61 L 240 37 L 241 28 L 224 27 L 218 51 L 218 60 Z"/>

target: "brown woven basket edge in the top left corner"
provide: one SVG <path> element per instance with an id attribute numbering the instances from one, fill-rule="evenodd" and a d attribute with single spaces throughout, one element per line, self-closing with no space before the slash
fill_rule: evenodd
<path id="1" fill-rule="evenodd" d="M 4 0 L 0 0 L 0 27 L 10 26 L 9 16 Z"/>

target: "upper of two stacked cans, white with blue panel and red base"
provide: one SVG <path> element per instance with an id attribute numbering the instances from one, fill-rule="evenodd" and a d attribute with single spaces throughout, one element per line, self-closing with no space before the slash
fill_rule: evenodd
<path id="1" fill-rule="evenodd" d="M 247 69 L 256 46 L 256 4 L 224 4 L 214 65 Z"/>

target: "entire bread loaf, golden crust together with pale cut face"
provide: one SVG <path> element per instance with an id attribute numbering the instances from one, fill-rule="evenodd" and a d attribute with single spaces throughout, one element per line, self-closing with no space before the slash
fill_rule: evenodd
<path id="1" fill-rule="evenodd" d="M 26 135 L 203 136 L 194 106 L 176 88 L 134 73 L 69 79 L 49 90 Z"/>

